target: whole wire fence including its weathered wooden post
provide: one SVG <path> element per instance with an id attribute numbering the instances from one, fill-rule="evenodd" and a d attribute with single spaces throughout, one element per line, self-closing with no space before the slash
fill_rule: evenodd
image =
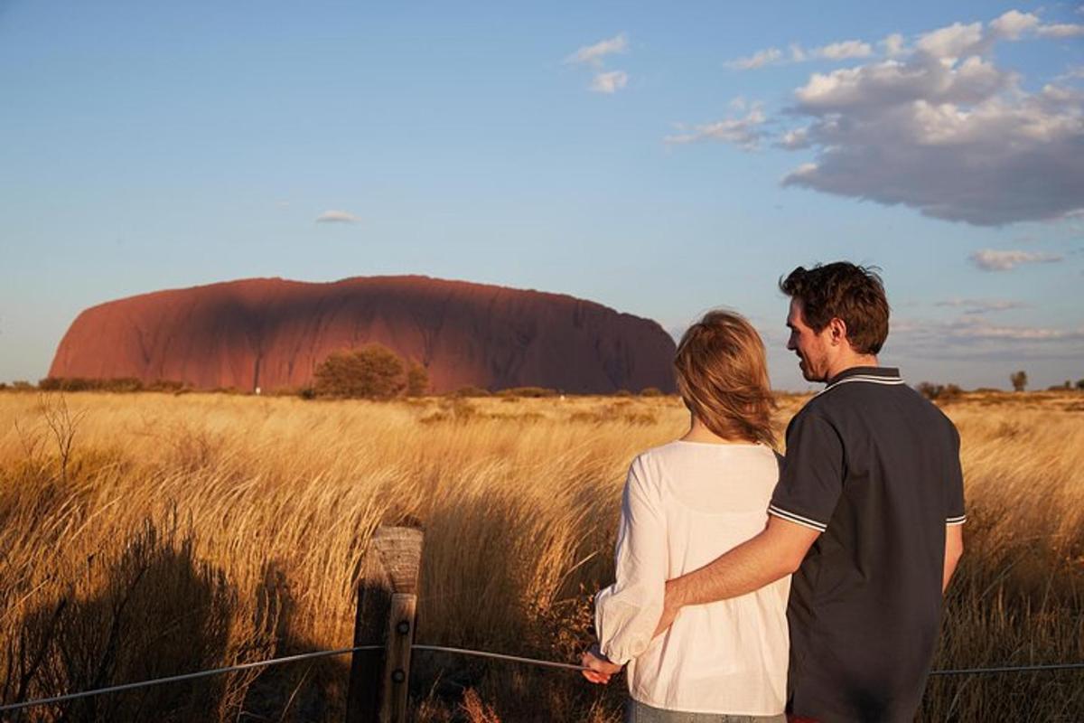
<path id="1" fill-rule="evenodd" d="M 347 721 L 380 721 L 401 723 L 406 715 L 406 687 L 410 677 L 410 654 L 413 650 L 449 653 L 505 662 L 586 670 L 583 666 L 555 660 L 540 660 L 504 653 L 473 648 L 424 645 L 413 643 L 414 610 L 417 602 L 417 571 L 422 553 L 421 530 L 410 528 L 378 528 L 373 538 L 373 550 L 366 556 L 365 572 L 359 583 L 358 616 L 354 644 L 346 648 L 312 650 L 282 658 L 256 660 L 223 668 L 199 670 L 179 675 L 156 677 L 134 683 L 124 683 L 93 690 L 68 693 L 50 698 L 37 698 L 0 705 L 0 713 L 13 712 L 37 706 L 49 706 L 79 698 L 120 693 L 136 688 L 180 683 L 211 675 L 223 675 L 254 668 L 282 666 L 301 660 L 352 655 L 350 687 L 347 694 Z M 404 592 L 405 591 L 405 592 Z M 374 615 L 375 612 L 375 615 Z M 366 638 L 380 640 L 367 643 Z M 383 650 L 382 661 L 360 653 Z M 995 675 L 1005 673 L 1040 673 L 1061 670 L 1084 670 L 1084 662 L 1041 663 L 1032 666 L 994 666 L 988 668 L 959 668 L 931 671 L 931 675 Z"/>

